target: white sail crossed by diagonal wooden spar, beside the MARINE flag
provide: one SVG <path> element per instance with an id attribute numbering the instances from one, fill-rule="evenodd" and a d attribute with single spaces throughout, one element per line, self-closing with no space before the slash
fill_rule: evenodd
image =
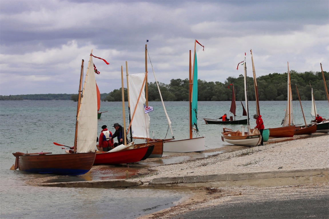
<path id="1" fill-rule="evenodd" d="M 130 112 L 132 114 L 131 116 L 134 116 L 131 123 L 133 138 L 150 138 L 150 116 L 144 111 L 144 103 L 146 102 L 146 99 L 144 91 L 145 83 L 143 85 L 143 81 L 145 75 L 146 73 L 128 75 Z M 141 94 L 140 97 L 139 94 Z"/>

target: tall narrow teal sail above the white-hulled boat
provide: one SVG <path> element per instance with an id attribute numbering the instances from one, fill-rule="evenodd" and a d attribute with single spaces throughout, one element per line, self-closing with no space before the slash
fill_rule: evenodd
<path id="1" fill-rule="evenodd" d="M 198 65 L 196 61 L 196 52 L 194 52 L 194 69 L 193 69 L 193 87 L 192 87 L 192 128 L 199 132 L 197 126 L 198 119 Z"/>

